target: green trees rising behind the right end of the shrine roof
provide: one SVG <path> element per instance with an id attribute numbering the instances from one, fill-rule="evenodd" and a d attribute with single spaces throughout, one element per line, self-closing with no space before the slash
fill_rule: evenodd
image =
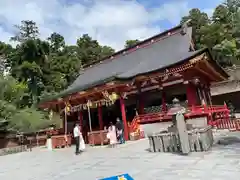
<path id="1" fill-rule="evenodd" d="M 196 49 L 211 48 L 222 66 L 240 64 L 239 7 L 239 0 L 226 0 L 215 8 L 211 19 L 199 9 L 192 9 L 181 21 L 191 19 Z"/>

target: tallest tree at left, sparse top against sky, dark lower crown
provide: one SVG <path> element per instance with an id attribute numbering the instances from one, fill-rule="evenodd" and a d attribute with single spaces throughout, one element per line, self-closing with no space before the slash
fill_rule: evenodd
<path id="1" fill-rule="evenodd" d="M 37 103 L 38 96 L 44 89 L 42 76 L 50 52 L 49 44 L 37 38 L 39 32 L 35 22 L 22 21 L 22 24 L 16 27 L 19 31 L 13 40 L 20 44 L 8 56 L 7 65 L 15 78 L 28 84 L 30 104 Z"/>

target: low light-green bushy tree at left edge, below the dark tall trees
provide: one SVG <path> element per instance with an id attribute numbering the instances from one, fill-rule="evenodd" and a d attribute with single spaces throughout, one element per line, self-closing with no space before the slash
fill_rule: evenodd
<path id="1" fill-rule="evenodd" d="M 21 106 L 27 85 L 11 76 L 0 76 L 0 86 L 0 130 L 26 133 L 49 125 L 44 113 Z"/>

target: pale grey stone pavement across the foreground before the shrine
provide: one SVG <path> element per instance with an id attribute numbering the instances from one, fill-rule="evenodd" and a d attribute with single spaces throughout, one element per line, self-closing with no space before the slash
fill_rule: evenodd
<path id="1" fill-rule="evenodd" d="M 136 180 L 239 180 L 240 144 L 215 145 L 209 152 L 180 156 L 150 153 L 147 140 L 111 149 L 88 148 L 79 156 L 74 148 L 0 157 L 1 180 L 96 180 L 129 173 Z"/>

